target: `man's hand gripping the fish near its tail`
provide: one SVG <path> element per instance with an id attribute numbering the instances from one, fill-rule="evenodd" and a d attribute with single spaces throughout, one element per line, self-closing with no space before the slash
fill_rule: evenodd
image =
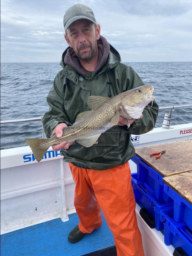
<path id="1" fill-rule="evenodd" d="M 56 134 L 57 138 L 61 138 L 63 135 L 63 129 L 67 127 L 66 123 L 59 123 L 55 129 L 53 130 L 51 136 L 53 134 Z M 68 149 L 69 146 L 71 146 L 74 143 L 74 141 L 67 143 L 66 141 L 63 141 L 59 144 L 55 144 L 52 146 L 54 151 L 57 151 L 59 149 Z"/>

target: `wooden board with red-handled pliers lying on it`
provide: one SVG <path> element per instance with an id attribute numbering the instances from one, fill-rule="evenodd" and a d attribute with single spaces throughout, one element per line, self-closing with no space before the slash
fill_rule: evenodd
<path id="1" fill-rule="evenodd" d="M 160 158 L 150 157 L 162 150 L 166 152 Z M 163 177 L 192 171 L 192 140 L 136 148 L 135 152 Z"/>

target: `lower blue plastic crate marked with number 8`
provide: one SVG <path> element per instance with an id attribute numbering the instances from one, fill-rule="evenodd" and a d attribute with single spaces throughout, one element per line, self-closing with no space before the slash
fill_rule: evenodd
<path id="1" fill-rule="evenodd" d="M 173 205 L 173 203 L 159 203 L 154 198 L 154 191 L 147 184 L 137 181 L 135 179 L 136 175 L 137 173 L 131 174 L 131 184 L 135 195 L 135 201 L 140 202 L 155 218 L 156 230 L 162 230 L 164 226 L 160 222 L 160 210 Z"/>

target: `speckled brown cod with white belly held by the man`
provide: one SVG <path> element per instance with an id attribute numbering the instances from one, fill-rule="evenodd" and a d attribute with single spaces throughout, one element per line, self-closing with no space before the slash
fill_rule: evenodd
<path id="1" fill-rule="evenodd" d="M 112 98 L 90 96 L 87 105 L 91 110 L 77 115 L 75 123 L 63 130 L 61 138 L 53 135 L 50 139 L 25 139 L 25 141 L 38 162 L 42 160 L 50 146 L 62 141 L 77 141 L 82 146 L 90 147 L 102 133 L 117 125 L 120 116 L 125 118 L 129 128 L 129 119 L 138 119 L 145 106 L 154 100 L 153 90 L 153 86 L 143 85 Z"/>

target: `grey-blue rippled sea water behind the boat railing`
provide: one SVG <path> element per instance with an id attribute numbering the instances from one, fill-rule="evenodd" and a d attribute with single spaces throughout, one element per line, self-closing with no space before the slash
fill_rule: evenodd
<path id="1" fill-rule="evenodd" d="M 145 84 L 154 86 L 159 107 L 192 104 L 192 62 L 126 62 Z M 40 118 L 59 63 L 1 63 L 1 120 Z M 161 127 L 159 111 L 155 127 Z M 171 125 L 192 122 L 192 108 L 175 109 Z M 41 138 L 41 122 L 1 125 L 1 149 L 27 146 L 24 138 Z"/>

